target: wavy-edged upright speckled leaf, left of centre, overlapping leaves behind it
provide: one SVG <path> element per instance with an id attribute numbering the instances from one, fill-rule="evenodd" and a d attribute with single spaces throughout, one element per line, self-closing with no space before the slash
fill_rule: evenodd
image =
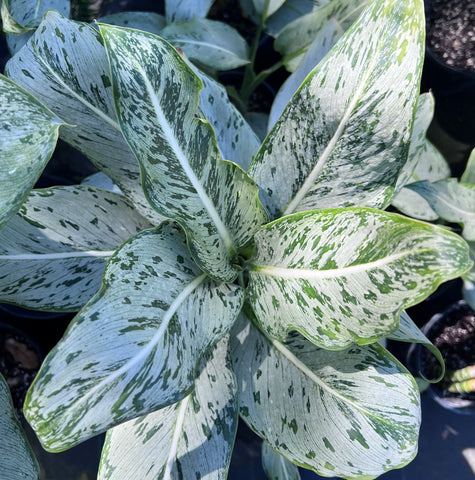
<path id="1" fill-rule="evenodd" d="M 119 122 L 150 204 L 184 226 L 202 270 L 234 280 L 237 252 L 266 218 L 254 181 L 220 159 L 211 125 L 196 117 L 201 82 L 171 45 L 137 30 L 100 29 Z"/>

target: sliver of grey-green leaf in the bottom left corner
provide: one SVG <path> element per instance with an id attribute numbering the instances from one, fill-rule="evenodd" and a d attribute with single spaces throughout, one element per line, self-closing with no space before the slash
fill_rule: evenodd
<path id="1" fill-rule="evenodd" d="M 0 478 L 39 480 L 40 472 L 20 422 L 15 416 L 7 382 L 0 374 Z"/>

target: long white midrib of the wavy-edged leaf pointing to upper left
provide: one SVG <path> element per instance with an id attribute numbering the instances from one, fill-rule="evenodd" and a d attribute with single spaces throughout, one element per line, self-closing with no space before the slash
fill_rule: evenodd
<path id="1" fill-rule="evenodd" d="M 232 240 L 232 237 L 224 225 L 221 217 L 219 216 L 218 211 L 216 210 L 215 205 L 209 198 L 207 192 L 203 188 L 203 185 L 199 181 L 198 177 L 196 176 L 195 172 L 191 168 L 191 165 L 188 161 L 187 156 L 183 152 L 180 144 L 178 143 L 178 140 L 175 137 L 175 133 L 173 131 L 173 128 L 170 126 L 165 114 L 163 113 L 162 107 L 160 105 L 160 101 L 157 98 L 157 95 L 155 94 L 155 89 L 153 88 L 153 85 L 150 83 L 150 80 L 147 77 L 146 72 L 142 68 L 142 66 L 137 62 L 137 60 L 130 54 L 130 52 L 126 51 L 126 55 L 130 58 L 131 62 L 135 64 L 137 70 L 140 72 L 142 79 L 145 83 L 145 86 L 147 88 L 147 93 L 152 101 L 153 108 L 155 111 L 155 114 L 157 115 L 158 123 L 163 131 L 163 134 L 165 138 L 168 140 L 169 145 L 171 149 L 173 150 L 176 158 L 178 159 L 181 167 L 183 168 L 187 178 L 189 179 L 191 185 L 195 189 L 198 197 L 200 198 L 205 210 L 208 212 L 209 216 L 213 220 L 216 229 L 218 231 L 219 236 L 221 237 L 226 249 L 230 253 L 235 252 L 234 248 L 234 242 Z M 194 122 L 200 121 L 198 119 L 194 119 Z M 216 159 L 216 167 L 217 162 L 221 161 L 220 159 Z"/>

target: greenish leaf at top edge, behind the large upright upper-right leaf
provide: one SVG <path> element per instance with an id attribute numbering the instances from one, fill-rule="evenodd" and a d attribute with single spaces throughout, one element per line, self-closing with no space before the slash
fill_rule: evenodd
<path id="1" fill-rule="evenodd" d="M 293 72 L 317 35 L 337 23 L 346 31 L 358 18 L 368 0 L 331 0 L 322 2 L 310 13 L 283 28 L 275 39 L 275 49 L 284 57 L 286 68 Z"/>

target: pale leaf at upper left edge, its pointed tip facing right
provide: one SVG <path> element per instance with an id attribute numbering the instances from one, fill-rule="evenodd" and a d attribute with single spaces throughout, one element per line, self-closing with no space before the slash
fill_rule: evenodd
<path id="1" fill-rule="evenodd" d="M 63 122 L 0 75 L 0 228 L 18 211 L 48 163 Z"/>

